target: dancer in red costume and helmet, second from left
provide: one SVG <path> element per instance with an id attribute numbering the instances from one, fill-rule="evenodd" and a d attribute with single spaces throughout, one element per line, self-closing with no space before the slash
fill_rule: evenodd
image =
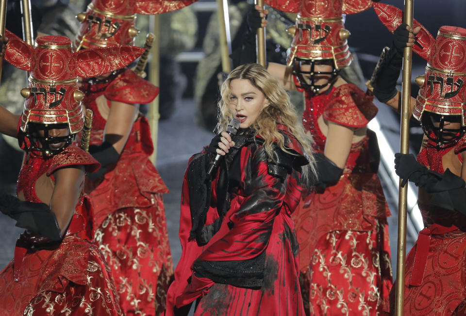
<path id="1" fill-rule="evenodd" d="M 195 1 L 93 0 L 77 16 L 75 46 L 133 45 L 136 13 L 161 14 Z M 152 102 L 159 89 L 129 68 L 83 80 L 81 89 L 94 111 L 89 152 L 101 164 L 85 184 L 95 242 L 110 264 L 123 312 L 159 315 L 173 275 L 162 199 L 168 189 L 149 160 L 149 122 L 139 113 L 139 104 Z"/>

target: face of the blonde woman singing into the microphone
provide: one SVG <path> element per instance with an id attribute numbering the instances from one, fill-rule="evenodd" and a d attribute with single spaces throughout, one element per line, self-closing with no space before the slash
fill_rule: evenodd
<path id="1" fill-rule="evenodd" d="M 266 96 L 249 79 L 233 79 L 230 82 L 228 108 L 233 117 L 241 122 L 240 128 L 253 125 L 268 104 Z"/>

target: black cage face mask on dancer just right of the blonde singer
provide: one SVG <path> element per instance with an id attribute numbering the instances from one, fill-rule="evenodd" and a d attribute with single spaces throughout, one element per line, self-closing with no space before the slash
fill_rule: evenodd
<path id="1" fill-rule="evenodd" d="M 333 81 L 338 76 L 338 70 L 335 68 L 335 63 L 333 63 L 333 60 L 330 60 L 330 61 L 332 62 L 330 64 L 332 66 L 332 71 L 314 71 L 315 65 L 317 63 L 321 64 L 321 61 L 303 60 L 300 58 L 296 58 L 294 66 L 293 66 L 293 73 L 296 75 L 296 78 L 300 82 L 300 85 L 298 86 L 298 88 L 302 88 L 304 90 L 312 91 L 314 94 L 318 94 L 321 89 L 332 84 Z M 310 65 L 311 70 L 302 71 L 301 70 L 302 65 Z M 309 75 L 310 83 L 308 83 L 308 81 L 304 78 L 304 75 Z M 330 78 L 327 83 L 316 85 L 314 83 L 316 75 L 330 75 Z"/>

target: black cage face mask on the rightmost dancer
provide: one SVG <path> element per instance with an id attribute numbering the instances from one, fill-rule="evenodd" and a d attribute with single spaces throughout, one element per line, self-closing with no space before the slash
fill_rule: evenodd
<path id="1" fill-rule="evenodd" d="M 461 115 L 441 115 L 424 112 L 421 117 L 421 126 L 424 134 L 436 143 L 437 148 L 447 148 L 455 145 L 463 137 L 466 127 L 461 125 L 459 129 L 445 128 L 445 122 L 461 124 L 461 119 Z M 433 122 L 439 123 L 439 126 L 436 127 Z"/>

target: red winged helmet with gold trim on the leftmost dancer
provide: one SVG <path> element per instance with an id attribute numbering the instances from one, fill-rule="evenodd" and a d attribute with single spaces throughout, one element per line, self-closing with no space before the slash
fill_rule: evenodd
<path id="1" fill-rule="evenodd" d="M 30 72 L 29 87 L 21 89 L 25 102 L 19 127 L 25 133 L 29 123 L 64 124 L 71 135 L 81 131 L 84 95 L 78 90 L 78 76 L 89 78 L 120 69 L 144 51 L 118 46 L 73 52 L 71 40 L 64 36 L 42 36 L 31 47 L 7 30 L 5 35 L 9 38 L 5 59 Z"/>

